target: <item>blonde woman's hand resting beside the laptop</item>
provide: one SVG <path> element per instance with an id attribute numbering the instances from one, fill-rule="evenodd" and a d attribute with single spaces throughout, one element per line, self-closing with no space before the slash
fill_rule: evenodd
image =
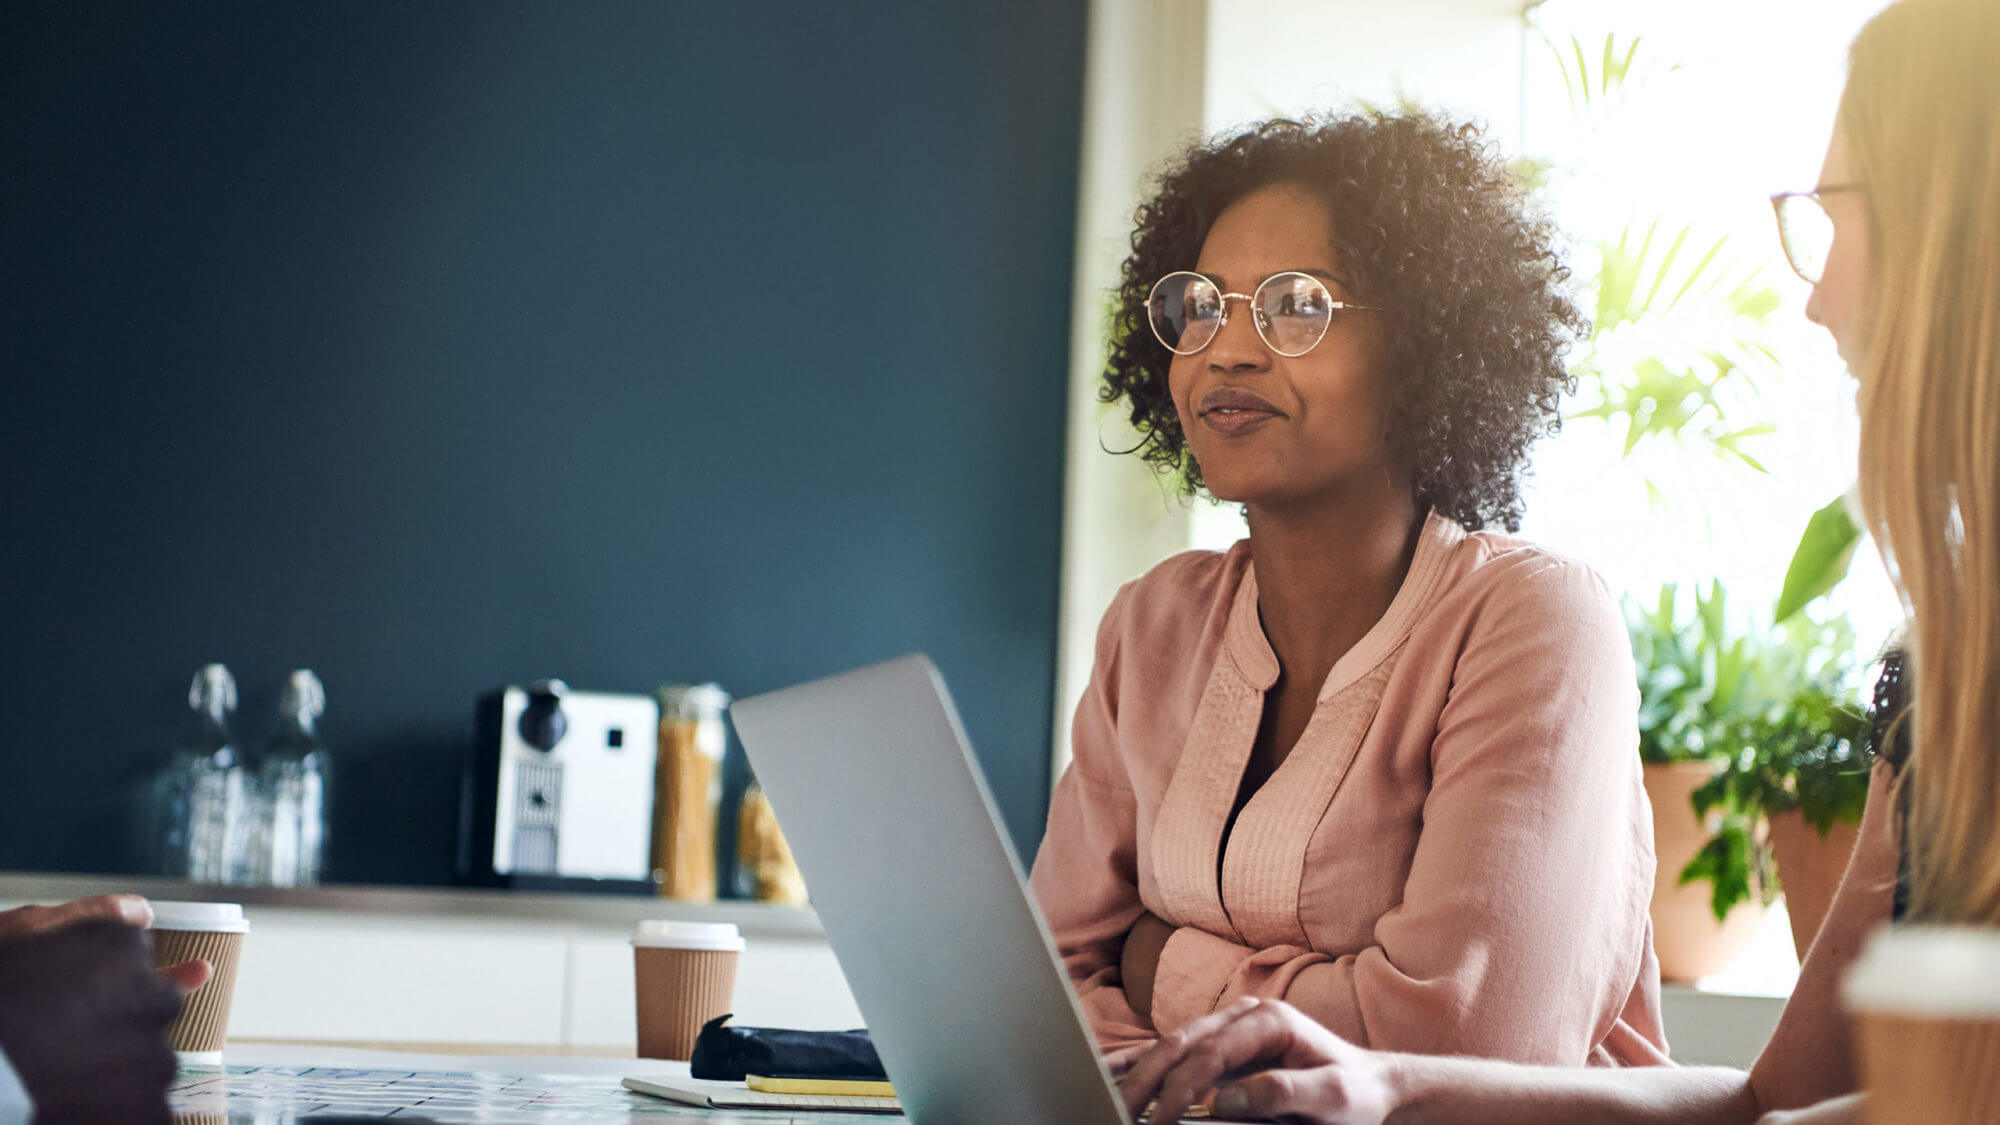
<path id="1" fill-rule="evenodd" d="M 1396 1105 L 1384 1055 L 1284 1001 L 1236 1001 L 1110 1065 L 1134 1117 L 1158 1099 L 1154 1121 L 1180 1121 L 1210 1089 L 1216 1115 L 1232 1119 L 1380 1125 Z"/>

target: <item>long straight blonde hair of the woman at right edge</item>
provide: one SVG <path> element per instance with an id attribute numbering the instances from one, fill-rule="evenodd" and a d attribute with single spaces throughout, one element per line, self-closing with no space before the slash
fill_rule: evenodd
<path id="1" fill-rule="evenodd" d="M 1912 913 L 2000 923 L 2000 0 L 1902 0 L 1840 122 L 1870 206 L 1862 508 L 1910 613 Z"/>

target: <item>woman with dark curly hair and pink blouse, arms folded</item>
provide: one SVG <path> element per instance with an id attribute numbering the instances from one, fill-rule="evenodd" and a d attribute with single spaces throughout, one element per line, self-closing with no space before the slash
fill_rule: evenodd
<path id="1" fill-rule="evenodd" d="M 1550 228 L 1424 114 L 1198 146 L 1138 220 L 1102 398 L 1250 534 L 1098 631 L 1034 891 L 1100 1045 L 1274 997 L 1370 1047 L 1664 1061 L 1624 625 L 1508 534 L 1582 330 Z"/>

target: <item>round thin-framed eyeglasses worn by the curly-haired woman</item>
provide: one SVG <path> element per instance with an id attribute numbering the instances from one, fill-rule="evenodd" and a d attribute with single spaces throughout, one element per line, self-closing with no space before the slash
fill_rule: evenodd
<path id="1" fill-rule="evenodd" d="M 1264 278 L 1256 292 L 1222 292 L 1222 286 L 1194 270 L 1174 270 L 1152 284 L 1146 320 L 1152 334 L 1176 356 L 1192 356 L 1230 322 L 1230 300 L 1248 300 L 1256 334 L 1270 350 L 1296 358 L 1326 338 L 1334 312 L 1372 308 L 1334 300 L 1326 282 L 1286 270 Z"/>

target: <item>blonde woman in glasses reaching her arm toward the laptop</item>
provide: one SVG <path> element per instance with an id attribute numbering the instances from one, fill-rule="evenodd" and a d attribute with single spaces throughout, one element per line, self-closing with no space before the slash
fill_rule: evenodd
<path id="1" fill-rule="evenodd" d="M 1806 312 L 1860 380 L 1862 500 L 1910 613 L 1914 751 L 1900 777 L 1876 767 L 1862 841 L 1750 1073 L 1390 1055 L 1284 1003 L 1246 999 L 1116 1059 L 1134 1109 L 1158 1095 L 1156 1117 L 1174 1119 L 1220 1083 L 1228 1115 L 1342 1125 L 1860 1119 L 1838 983 L 1898 911 L 1898 885 L 1916 919 L 2000 925 L 1994 42 L 1994 0 L 1902 0 L 1882 12 L 1854 42 L 1818 188 L 1776 200 L 1786 252 L 1814 282 Z"/>

